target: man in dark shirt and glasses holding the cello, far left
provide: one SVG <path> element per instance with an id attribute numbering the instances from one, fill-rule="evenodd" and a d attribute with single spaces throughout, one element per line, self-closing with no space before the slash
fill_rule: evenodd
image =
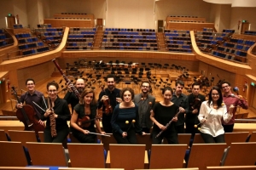
<path id="1" fill-rule="evenodd" d="M 45 126 L 44 122 L 40 120 L 41 117 L 41 111 L 33 102 L 35 102 L 39 106 L 44 105 L 43 96 L 44 94 L 42 92 L 39 92 L 35 89 L 36 83 L 32 78 L 26 79 L 26 88 L 27 91 L 24 94 L 21 94 L 20 96 L 20 104 L 16 105 L 17 109 L 21 109 L 23 107 L 23 104 L 26 103 L 26 105 L 31 105 L 36 113 L 36 117 L 38 118 L 38 123 L 40 123 L 42 126 Z"/>

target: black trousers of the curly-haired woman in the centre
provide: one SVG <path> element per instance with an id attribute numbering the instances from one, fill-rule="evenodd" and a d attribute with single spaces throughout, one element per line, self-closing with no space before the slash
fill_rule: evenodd
<path id="1" fill-rule="evenodd" d="M 134 128 L 130 128 L 127 132 L 126 138 L 122 134 L 113 132 L 113 138 L 116 139 L 118 144 L 137 144 L 136 132 Z"/>

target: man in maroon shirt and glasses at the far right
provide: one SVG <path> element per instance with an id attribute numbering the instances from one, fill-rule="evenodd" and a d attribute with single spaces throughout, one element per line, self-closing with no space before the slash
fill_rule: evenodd
<path id="1" fill-rule="evenodd" d="M 232 133 L 234 128 L 234 123 L 235 123 L 235 114 L 236 114 L 237 106 L 238 105 L 241 106 L 242 109 L 248 109 L 248 104 L 247 104 L 247 101 L 243 99 L 241 95 L 232 94 L 230 82 L 226 82 L 226 81 L 221 82 L 221 88 L 222 88 L 222 91 L 224 92 L 223 101 L 227 107 L 227 110 L 229 110 L 230 105 L 235 106 L 235 109 L 233 110 L 233 116 L 230 119 L 230 122 L 224 122 L 224 121 L 222 122 L 222 126 L 224 127 L 224 132 Z"/>

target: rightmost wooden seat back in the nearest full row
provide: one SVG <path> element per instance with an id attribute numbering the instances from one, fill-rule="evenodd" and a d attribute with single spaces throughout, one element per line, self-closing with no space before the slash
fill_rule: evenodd
<path id="1" fill-rule="evenodd" d="M 254 165 L 256 161 L 256 142 L 231 143 L 224 166 Z"/>

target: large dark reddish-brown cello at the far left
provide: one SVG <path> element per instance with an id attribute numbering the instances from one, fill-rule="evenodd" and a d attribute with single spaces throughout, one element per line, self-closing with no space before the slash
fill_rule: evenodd
<path id="1" fill-rule="evenodd" d="M 12 90 L 17 102 L 20 104 L 21 102 L 15 87 L 12 87 Z M 38 131 L 44 131 L 44 126 L 38 122 L 35 115 L 34 108 L 31 105 L 23 105 L 22 108 L 19 108 L 16 111 L 17 118 L 20 120 L 20 122 L 23 122 L 25 126 L 24 130 L 35 131 L 36 133 L 38 133 Z"/>

